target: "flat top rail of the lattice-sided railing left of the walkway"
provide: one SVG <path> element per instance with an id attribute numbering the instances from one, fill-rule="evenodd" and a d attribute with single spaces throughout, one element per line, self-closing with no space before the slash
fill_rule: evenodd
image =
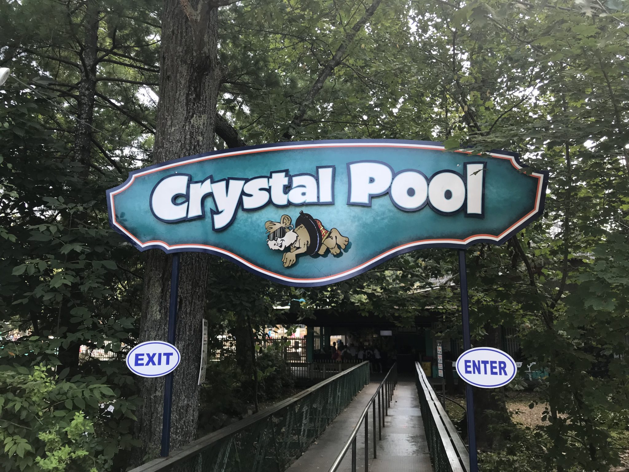
<path id="1" fill-rule="evenodd" d="M 153 459 L 152 461 L 149 461 L 145 464 L 142 464 L 141 466 L 131 469 L 129 472 L 158 472 L 158 471 L 164 472 L 164 471 L 171 470 L 175 466 L 184 466 L 184 464 L 186 464 L 187 461 L 190 461 L 191 459 L 196 458 L 196 456 L 199 456 L 199 454 L 203 453 L 204 451 L 212 447 L 214 444 L 216 444 L 216 442 L 221 441 L 222 439 L 225 439 L 226 437 L 230 435 L 235 435 L 235 434 L 238 434 L 239 432 L 242 432 L 243 430 L 247 430 L 256 422 L 265 420 L 271 417 L 272 415 L 274 415 L 275 413 L 280 412 L 281 410 L 284 410 L 288 407 L 292 407 L 292 405 L 298 403 L 304 397 L 311 395 L 315 391 L 319 390 L 320 388 L 323 388 L 324 386 L 332 382 L 337 381 L 340 377 L 351 373 L 355 369 L 361 369 L 361 368 L 367 369 L 365 380 L 366 380 L 366 383 L 369 383 L 369 361 L 365 361 L 365 362 L 362 362 L 361 364 L 357 364 L 357 366 L 347 369 L 346 371 L 340 372 L 336 374 L 335 376 L 325 379 L 321 381 L 320 383 L 316 384 L 315 386 L 312 386 L 306 390 L 301 391 L 300 393 L 298 393 L 298 395 L 292 396 L 291 398 L 287 398 L 287 400 L 276 403 L 276 405 L 273 405 L 272 407 L 265 408 L 261 412 L 255 413 L 246 419 L 240 420 L 234 424 L 221 428 L 220 430 L 216 432 L 205 435 L 197 439 L 196 441 L 192 441 L 190 444 L 187 444 L 187 446 L 181 447 L 181 449 L 177 449 L 173 451 L 168 457 Z M 351 401 L 350 398 L 348 399 L 348 402 L 349 401 Z M 194 467 L 192 469 L 196 470 Z"/>

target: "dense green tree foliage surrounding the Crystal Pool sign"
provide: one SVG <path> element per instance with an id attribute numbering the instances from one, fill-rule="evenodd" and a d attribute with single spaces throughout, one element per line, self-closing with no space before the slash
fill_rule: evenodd
<path id="1" fill-rule="evenodd" d="M 474 339 L 516 328 L 523 356 L 550 371 L 538 387 L 542 425 L 500 422 L 509 440 L 484 444 L 481 466 L 618 464 L 629 426 L 629 6 L 209 4 L 225 4 L 214 149 L 403 138 L 515 150 L 550 170 L 542 220 L 501 247 L 469 251 Z M 13 74 L 0 87 L 0 469 L 121 470 L 138 446 L 142 400 L 123 359 L 138 339 L 144 257 L 109 228 L 104 191 L 153 159 L 161 9 L 157 0 L 0 3 L 0 67 Z M 304 299 L 304 312 L 401 323 L 438 312 L 438 329 L 457 336 L 455 256 L 413 252 L 318 289 L 213 258 L 211 332 L 242 334 L 243 323 L 264 326 L 274 306 Z M 25 335 L 9 341 L 13 329 Z M 113 360 L 79 368 L 79 346 Z"/>

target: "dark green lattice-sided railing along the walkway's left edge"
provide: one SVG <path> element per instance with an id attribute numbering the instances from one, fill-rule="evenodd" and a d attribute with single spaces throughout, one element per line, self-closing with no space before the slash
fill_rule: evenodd
<path id="1" fill-rule="evenodd" d="M 369 381 L 362 362 L 130 472 L 283 472 Z"/>

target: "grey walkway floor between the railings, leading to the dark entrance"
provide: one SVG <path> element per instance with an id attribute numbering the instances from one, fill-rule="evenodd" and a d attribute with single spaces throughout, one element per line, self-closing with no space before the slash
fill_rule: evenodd
<path id="1" fill-rule="evenodd" d="M 352 433 L 362 410 L 374 395 L 377 386 L 376 382 L 366 385 L 353 402 L 327 427 L 315 444 L 287 469 L 287 472 L 328 472 Z M 382 441 L 377 441 L 377 459 L 374 459 L 372 450 L 371 415 L 372 410 L 369 410 L 369 472 L 432 472 L 415 382 L 398 382 L 389 415 L 385 417 Z M 376 422 L 376 430 L 377 426 Z M 357 435 L 356 446 L 356 470 L 364 472 L 364 427 L 361 427 Z M 352 448 L 350 447 L 338 472 L 351 472 L 351 470 Z"/>

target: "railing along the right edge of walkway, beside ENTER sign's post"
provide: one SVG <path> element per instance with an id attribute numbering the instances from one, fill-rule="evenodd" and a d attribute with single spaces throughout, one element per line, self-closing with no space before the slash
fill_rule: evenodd
<path id="1" fill-rule="evenodd" d="M 469 472 L 469 453 L 450 421 L 421 364 L 415 362 L 417 394 L 435 472 Z"/>

